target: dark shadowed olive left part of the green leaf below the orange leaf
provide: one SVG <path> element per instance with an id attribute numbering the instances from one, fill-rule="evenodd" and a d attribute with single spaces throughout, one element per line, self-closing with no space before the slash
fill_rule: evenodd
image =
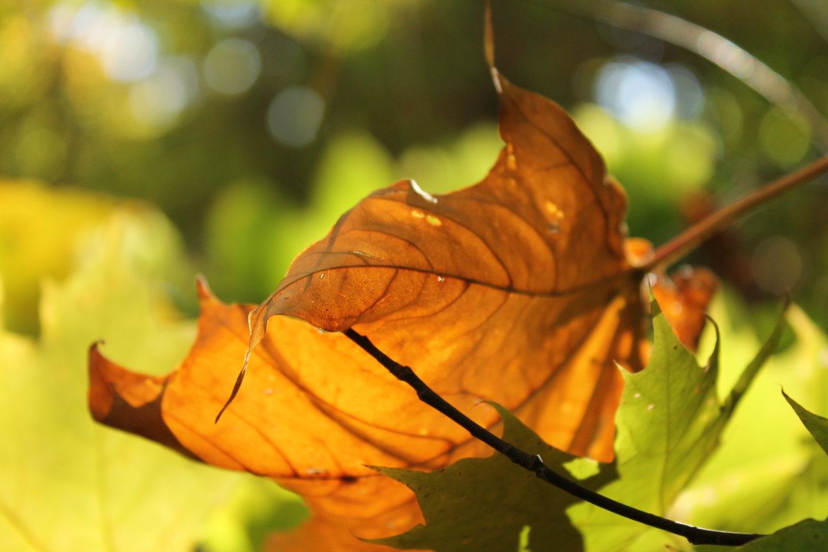
<path id="1" fill-rule="evenodd" d="M 508 410 L 493 406 L 503 418 L 503 439 L 530 454 L 540 454 L 547 466 L 584 475 L 590 467 L 597 468 L 596 463 L 552 448 Z M 578 499 L 539 481 L 502 454 L 464 458 L 431 473 L 377 470 L 416 492 L 426 525 L 374 543 L 436 552 L 517 550 L 528 536 L 524 544 L 532 550 L 576 552 L 582 548 L 580 533 L 565 513 Z M 614 477 L 612 467 L 604 465 L 581 484 L 597 488 Z"/>

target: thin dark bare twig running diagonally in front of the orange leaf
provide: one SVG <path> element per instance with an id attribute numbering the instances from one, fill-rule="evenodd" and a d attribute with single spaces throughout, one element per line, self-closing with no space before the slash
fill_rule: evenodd
<path id="1" fill-rule="evenodd" d="M 733 533 L 729 531 L 717 531 L 710 529 L 701 529 L 700 527 L 690 526 L 678 521 L 667 520 L 663 517 L 656 516 L 646 511 L 641 511 L 632 506 L 627 506 L 621 502 L 614 501 L 611 498 L 604 497 L 597 492 L 590 491 L 586 487 L 580 486 L 578 483 L 565 478 L 560 473 L 552 470 L 537 454 L 528 454 L 521 449 L 518 449 L 513 444 L 509 444 L 503 439 L 500 439 L 483 426 L 478 425 L 468 416 L 451 406 L 449 402 L 445 401 L 443 397 L 438 395 L 431 387 L 427 386 L 416 373 L 407 366 L 402 366 L 398 362 L 389 358 L 387 354 L 380 351 L 371 340 L 362 334 L 357 333 L 354 329 L 348 329 L 344 332 L 351 341 L 359 345 L 360 348 L 371 355 L 380 364 L 385 367 L 388 372 L 391 372 L 398 380 L 407 383 L 416 391 L 417 396 L 426 405 L 440 411 L 442 414 L 454 420 L 457 424 L 469 431 L 475 439 L 483 441 L 492 449 L 503 454 L 513 463 L 516 463 L 522 468 L 526 468 L 532 473 L 535 473 L 538 478 L 543 481 L 558 487 L 562 491 L 570 493 L 574 497 L 590 502 L 595 506 L 604 508 L 604 510 L 612 511 L 619 516 L 626 517 L 633 521 L 638 521 L 644 525 L 656 527 L 657 529 L 666 530 L 674 535 L 685 537 L 693 545 L 725 545 L 725 546 L 739 546 L 757 539 L 760 536 L 752 533 Z"/>

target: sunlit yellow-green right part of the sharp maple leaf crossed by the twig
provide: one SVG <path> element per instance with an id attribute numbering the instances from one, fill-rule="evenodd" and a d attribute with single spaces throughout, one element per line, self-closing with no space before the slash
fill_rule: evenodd
<path id="1" fill-rule="evenodd" d="M 642 372 L 625 373 L 615 440 L 619 479 L 601 494 L 643 511 L 664 516 L 719 444 L 720 435 L 759 367 L 776 349 L 782 319 L 729 396 L 716 395 L 719 336 L 708 362 L 700 366 L 672 333 L 658 305 L 652 303 L 652 357 Z M 582 503 L 570 508 L 572 520 L 585 534 L 586 550 L 626 550 L 652 532 L 647 526 Z M 647 542 L 660 537 L 647 535 Z M 663 534 L 663 543 L 683 540 Z"/>

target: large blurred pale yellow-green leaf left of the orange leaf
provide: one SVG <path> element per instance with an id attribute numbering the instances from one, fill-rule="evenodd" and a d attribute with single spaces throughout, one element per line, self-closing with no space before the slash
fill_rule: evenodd
<path id="1" fill-rule="evenodd" d="M 156 212 L 117 211 L 80 268 L 47 282 L 40 339 L 0 329 L 3 552 L 193 550 L 241 481 L 94 424 L 86 410 L 89 343 L 105 335 L 108 354 L 149 371 L 190 343 L 194 324 L 147 277 L 180 258 L 175 242 Z"/>

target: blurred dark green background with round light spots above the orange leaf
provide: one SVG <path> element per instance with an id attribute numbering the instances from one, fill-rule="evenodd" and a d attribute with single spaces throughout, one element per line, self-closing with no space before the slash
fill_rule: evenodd
<path id="1" fill-rule="evenodd" d="M 632 235 L 665 242 L 828 151 L 825 2 L 583 4 L 493 2 L 498 67 L 573 113 L 628 190 Z M 483 11 L 439 0 L 2 2 L 5 328 L 41 332 L 42 281 L 69 278 L 79 242 L 118 210 L 161 220 L 138 257 L 156 266 L 157 250 L 175 252 L 152 274 L 186 317 L 196 272 L 223 300 L 259 302 L 372 190 L 401 178 L 432 193 L 474 184 L 501 146 Z M 758 312 L 790 292 L 825 329 L 826 230 L 822 178 L 690 260 Z M 276 508 L 268 492 L 238 501 Z M 270 527 L 255 521 L 272 520 L 267 507 L 245 514 L 248 535 Z"/>

